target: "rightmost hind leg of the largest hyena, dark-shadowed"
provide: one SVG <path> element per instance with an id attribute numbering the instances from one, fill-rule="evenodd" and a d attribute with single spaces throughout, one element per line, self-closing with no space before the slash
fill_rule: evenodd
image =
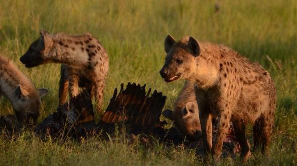
<path id="1" fill-rule="evenodd" d="M 273 113 L 271 112 L 262 113 L 258 119 L 256 119 L 253 126 L 253 137 L 254 137 L 254 150 L 261 146 L 261 152 L 268 152 L 268 145 L 271 141 L 272 136 L 272 125 L 273 125 Z"/>

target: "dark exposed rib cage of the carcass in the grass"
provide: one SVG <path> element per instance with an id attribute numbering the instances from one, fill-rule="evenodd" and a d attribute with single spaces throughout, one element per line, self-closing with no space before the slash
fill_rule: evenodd
<path id="1" fill-rule="evenodd" d="M 112 124 L 124 122 L 130 127 L 132 133 L 147 133 L 160 123 L 162 108 L 166 96 L 152 89 L 145 91 L 145 85 L 140 87 L 135 83 L 128 83 L 125 90 L 123 84 L 119 93 L 114 90 L 110 103 L 103 114 L 99 126 L 110 127 Z"/>

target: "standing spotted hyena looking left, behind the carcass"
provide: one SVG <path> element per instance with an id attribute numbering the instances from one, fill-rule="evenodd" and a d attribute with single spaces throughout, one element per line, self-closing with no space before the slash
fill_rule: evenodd
<path id="1" fill-rule="evenodd" d="M 79 87 L 94 94 L 97 111 L 103 100 L 103 89 L 108 72 L 108 56 L 100 42 L 90 34 L 70 36 L 62 33 L 52 35 L 41 30 L 41 37 L 31 44 L 20 58 L 31 68 L 46 63 L 61 63 L 59 104 L 77 96 Z"/>

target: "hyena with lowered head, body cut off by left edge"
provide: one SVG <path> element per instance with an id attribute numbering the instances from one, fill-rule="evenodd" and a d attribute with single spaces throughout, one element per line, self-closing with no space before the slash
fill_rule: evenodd
<path id="1" fill-rule="evenodd" d="M 20 125 L 26 120 L 36 124 L 40 111 L 40 98 L 48 91 L 36 90 L 32 82 L 7 58 L 0 56 L 0 97 L 6 96 L 12 103 Z"/>

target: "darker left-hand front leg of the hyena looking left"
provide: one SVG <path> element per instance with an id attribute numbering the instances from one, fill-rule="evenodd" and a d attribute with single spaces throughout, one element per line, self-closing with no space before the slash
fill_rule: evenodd
<path id="1" fill-rule="evenodd" d="M 59 86 L 59 105 L 63 105 L 67 102 L 67 92 L 69 86 L 68 80 L 68 66 L 61 65 L 61 77 Z"/>

